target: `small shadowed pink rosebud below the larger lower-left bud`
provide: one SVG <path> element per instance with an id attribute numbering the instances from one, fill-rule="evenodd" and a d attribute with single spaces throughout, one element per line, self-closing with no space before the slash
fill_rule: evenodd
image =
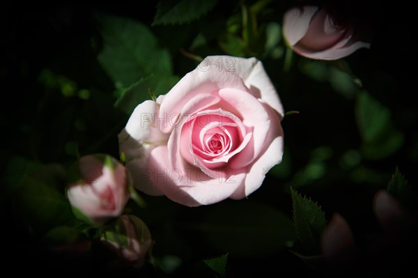
<path id="1" fill-rule="evenodd" d="M 153 245 L 148 227 L 134 215 L 122 215 L 116 226 L 118 232 L 105 232 L 102 242 L 119 254 L 126 263 L 141 268 Z"/>

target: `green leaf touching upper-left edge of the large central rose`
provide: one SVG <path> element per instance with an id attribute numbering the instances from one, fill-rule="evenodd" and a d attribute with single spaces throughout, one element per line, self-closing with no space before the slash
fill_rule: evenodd
<path id="1" fill-rule="evenodd" d="M 151 75 L 140 79 L 127 88 L 118 100 L 115 107 L 130 115 L 135 107 L 145 100 L 150 100 L 148 88 L 153 90 L 155 96 L 167 93 L 178 81 L 174 75 Z"/>

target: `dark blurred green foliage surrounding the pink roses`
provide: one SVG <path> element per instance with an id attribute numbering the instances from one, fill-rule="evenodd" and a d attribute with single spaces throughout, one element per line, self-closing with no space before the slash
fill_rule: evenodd
<path id="1" fill-rule="evenodd" d="M 318 234 L 333 213 L 346 218 L 364 249 L 380 233 L 372 211 L 378 190 L 416 213 L 413 9 L 343 1 L 346 10 L 383 9 L 371 49 L 313 61 L 282 38 L 285 11 L 303 3 L 5 4 L 0 211 L 6 264 L 42 273 L 314 277 L 300 258 L 318 253 Z M 132 109 L 150 99 L 149 91 L 166 93 L 212 54 L 258 57 L 286 111 L 300 111 L 282 122 L 284 160 L 245 200 L 185 208 L 164 197 L 135 196 L 141 206 L 131 200 L 125 213 L 148 226 L 154 261 L 141 270 L 118 265 L 98 243 L 101 231 L 72 215 L 64 192 L 68 167 L 80 155 L 118 157 L 117 134 Z M 392 177 L 396 167 L 408 184 L 399 171 Z"/>

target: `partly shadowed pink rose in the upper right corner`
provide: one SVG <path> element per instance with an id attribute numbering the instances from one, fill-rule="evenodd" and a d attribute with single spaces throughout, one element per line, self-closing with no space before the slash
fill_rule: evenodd
<path id="1" fill-rule="evenodd" d="M 284 15 L 286 43 L 297 54 L 310 59 L 334 60 L 370 47 L 373 24 L 354 24 L 346 16 L 337 17 L 333 9 L 303 6 Z"/>

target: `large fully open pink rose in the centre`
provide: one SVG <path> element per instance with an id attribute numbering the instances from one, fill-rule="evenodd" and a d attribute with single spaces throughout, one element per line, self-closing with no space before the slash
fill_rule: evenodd
<path id="1" fill-rule="evenodd" d="M 281 162 L 281 106 L 255 58 L 208 56 L 119 134 L 134 187 L 186 206 L 242 199 Z"/>

